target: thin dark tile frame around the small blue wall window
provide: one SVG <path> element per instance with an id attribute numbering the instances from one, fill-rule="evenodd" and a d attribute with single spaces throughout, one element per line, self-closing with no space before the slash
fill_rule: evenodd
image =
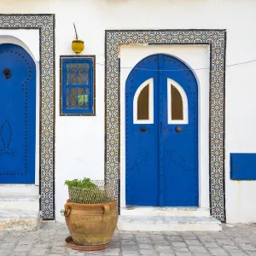
<path id="1" fill-rule="evenodd" d="M 62 59 L 89 58 L 93 67 L 93 102 L 92 113 L 62 113 Z M 60 116 L 95 116 L 96 115 L 96 55 L 61 55 L 60 56 Z"/>

